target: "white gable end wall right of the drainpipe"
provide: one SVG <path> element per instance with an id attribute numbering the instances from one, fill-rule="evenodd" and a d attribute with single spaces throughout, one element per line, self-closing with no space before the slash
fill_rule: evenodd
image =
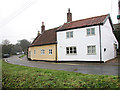
<path id="1" fill-rule="evenodd" d="M 102 39 L 102 59 L 104 61 L 115 58 L 114 43 L 117 42 L 110 25 L 109 19 L 101 26 L 101 39 Z M 106 51 L 104 52 L 104 48 Z"/>

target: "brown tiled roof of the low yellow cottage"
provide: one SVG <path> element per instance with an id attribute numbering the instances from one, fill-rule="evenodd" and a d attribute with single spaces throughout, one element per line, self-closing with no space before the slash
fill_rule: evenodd
<path id="1" fill-rule="evenodd" d="M 30 46 L 39 46 L 39 45 L 47 45 L 47 44 L 55 44 L 56 43 L 56 30 L 57 28 L 53 28 L 50 30 L 45 30 L 42 34 L 37 36 L 33 43 Z"/>

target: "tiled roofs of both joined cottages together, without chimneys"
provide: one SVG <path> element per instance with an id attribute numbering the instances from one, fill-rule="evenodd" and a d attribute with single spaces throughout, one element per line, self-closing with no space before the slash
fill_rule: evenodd
<path id="1" fill-rule="evenodd" d="M 35 38 L 35 40 L 30 46 L 56 44 L 56 41 L 57 41 L 56 31 L 102 24 L 104 23 L 107 16 L 108 14 L 97 16 L 97 17 L 91 17 L 87 19 L 82 19 L 82 20 L 77 20 L 77 21 L 72 21 L 69 23 L 64 23 L 64 25 L 61 27 L 45 30 L 42 34 L 40 34 Z"/>

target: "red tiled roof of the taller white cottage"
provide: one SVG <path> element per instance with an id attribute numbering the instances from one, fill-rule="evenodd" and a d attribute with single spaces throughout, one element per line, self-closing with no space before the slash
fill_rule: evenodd
<path id="1" fill-rule="evenodd" d="M 64 23 L 64 25 L 58 31 L 102 24 L 108 15 L 109 14 Z"/>

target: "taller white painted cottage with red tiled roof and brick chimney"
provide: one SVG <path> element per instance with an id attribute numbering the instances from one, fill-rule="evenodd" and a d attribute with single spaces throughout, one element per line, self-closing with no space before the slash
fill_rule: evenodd
<path id="1" fill-rule="evenodd" d="M 70 9 L 67 23 L 57 30 L 58 61 L 100 61 L 116 57 L 118 41 L 113 34 L 110 15 L 72 21 Z"/>

